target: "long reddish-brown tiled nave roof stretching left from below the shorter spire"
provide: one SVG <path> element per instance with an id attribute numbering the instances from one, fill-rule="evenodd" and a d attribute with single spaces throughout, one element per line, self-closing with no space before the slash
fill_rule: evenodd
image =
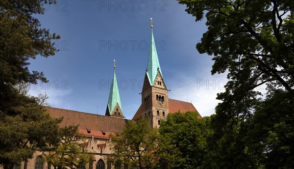
<path id="1" fill-rule="evenodd" d="M 46 107 L 46 109 L 49 111 L 51 117 L 63 117 L 63 121 L 60 123 L 61 126 L 79 125 L 79 132 L 86 137 L 94 135 L 95 138 L 108 139 L 110 133 L 121 132 L 124 124 L 128 121 L 124 118 L 66 109 L 52 107 Z"/>

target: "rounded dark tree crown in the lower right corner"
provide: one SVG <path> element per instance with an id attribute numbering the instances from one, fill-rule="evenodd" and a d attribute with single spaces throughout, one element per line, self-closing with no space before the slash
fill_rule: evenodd
<path id="1" fill-rule="evenodd" d="M 247 153 L 267 169 L 294 168 L 294 92 L 275 91 L 257 108 L 245 138 Z"/>

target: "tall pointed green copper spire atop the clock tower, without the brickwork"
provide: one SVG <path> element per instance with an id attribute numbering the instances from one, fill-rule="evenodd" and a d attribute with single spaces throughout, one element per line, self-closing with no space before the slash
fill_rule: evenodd
<path id="1" fill-rule="evenodd" d="M 152 19 L 151 19 L 152 24 Z M 154 84 L 155 78 L 157 76 L 157 69 L 159 69 L 159 72 L 161 73 L 161 68 L 159 65 L 159 60 L 156 52 L 154 37 L 153 37 L 153 26 L 151 25 L 151 40 L 150 40 L 150 49 L 149 49 L 149 57 L 148 57 L 148 65 L 147 65 L 147 73 L 150 80 L 150 85 Z"/>

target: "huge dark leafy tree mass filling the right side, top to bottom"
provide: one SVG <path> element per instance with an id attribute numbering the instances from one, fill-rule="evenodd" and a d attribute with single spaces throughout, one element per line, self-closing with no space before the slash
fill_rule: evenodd
<path id="1" fill-rule="evenodd" d="M 227 72 L 205 168 L 292 168 L 293 0 L 179 0 L 208 30 L 196 45 Z M 266 84 L 266 99 L 257 87 Z M 275 105 L 274 106 L 271 106 Z M 280 106 L 284 106 L 281 108 Z M 274 155 L 276 153 L 276 155 Z M 279 155 L 277 155 L 279 154 Z"/>

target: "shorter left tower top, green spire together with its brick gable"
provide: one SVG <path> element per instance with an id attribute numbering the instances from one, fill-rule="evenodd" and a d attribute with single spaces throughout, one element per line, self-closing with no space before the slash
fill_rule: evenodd
<path id="1" fill-rule="evenodd" d="M 124 118 L 122 104 L 121 104 L 121 98 L 120 98 L 120 93 L 119 93 L 119 87 L 118 87 L 118 83 L 117 83 L 117 79 L 116 79 L 116 75 L 115 75 L 115 60 L 113 60 L 113 61 L 114 61 L 113 80 L 111 83 L 111 88 L 110 88 L 110 93 L 109 93 L 109 98 L 108 98 L 108 103 L 107 103 L 105 115 Z"/>

